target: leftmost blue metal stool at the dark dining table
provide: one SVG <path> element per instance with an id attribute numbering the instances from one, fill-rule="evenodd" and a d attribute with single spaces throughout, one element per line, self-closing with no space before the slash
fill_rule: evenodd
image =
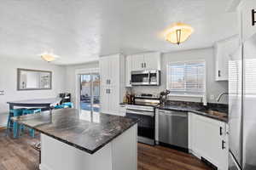
<path id="1" fill-rule="evenodd" d="M 9 133 L 9 129 L 13 127 L 13 133 L 14 133 L 14 138 L 17 138 L 18 135 L 18 130 L 19 129 L 19 124 L 17 122 L 12 122 L 11 117 L 13 116 L 21 116 L 23 113 L 24 109 L 12 109 L 9 111 L 9 116 L 8 116 L 8 121 L 7 121 L 7 133 Z"/>

